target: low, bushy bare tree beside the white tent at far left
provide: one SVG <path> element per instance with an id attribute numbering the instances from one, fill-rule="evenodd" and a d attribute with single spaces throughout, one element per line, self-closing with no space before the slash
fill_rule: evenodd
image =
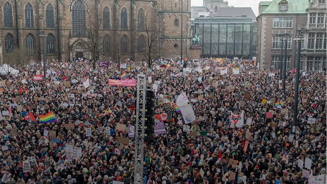
<path id="1" fill-rule="evenodd" d="M 3 52 L 2 70 L 5 70 L 8 75 L 10 75 L 14 69 L 24 70 L 29 64 L 29 59 L 26 55 L 28 55 L 28 52 L 23 47 L 15 48 L 10 52 Z"/>

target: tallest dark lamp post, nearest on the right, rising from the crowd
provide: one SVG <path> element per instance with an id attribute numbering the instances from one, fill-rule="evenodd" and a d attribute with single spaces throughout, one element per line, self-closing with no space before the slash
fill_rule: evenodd
<path id="1" fill-rule="evenodd" d="M 295 76 L 295 95 L 294 95 L 294 112 L 293 112 L 293 129 L 294 134 L 296 131 L 296 126 L 298 125 L 298 98 L 299 98 L 299 77 L 300 77 L 300 58 L 301 58 L 301 43 L 304 42 L 305 38 L 303 36 L 303 32 L 300 29 L 298 31 L 297 36 L 295 37 L 295 42 L 297 42 L 298 47 L 298 57 L 296 63 L 296 76 Z"/>

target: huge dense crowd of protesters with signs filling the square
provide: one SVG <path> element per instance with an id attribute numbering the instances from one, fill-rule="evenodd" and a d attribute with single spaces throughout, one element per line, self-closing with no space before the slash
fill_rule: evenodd
<path id="1" fill-rule="evenodd" d="M 80 59 L 50 61 L 47 76 L 33 80 L 43 73 L 33 62 L 19 75 L 2 75 L 0 184 L 133 184 L 134 138 L 116 126 L 135 125 L 136 87 L 109 86 L 108 79 L 124 72 L 137 79 L 148 67 L 122 64 L 93 70 Z M 326 175 L 326 71 L 301 71 L 293 124 L 294 71 L 286 71 L 284 94 L 279 71 L 259 70 L 251 60 L 204 58 L 187 67 L 192 71 L 164 59 L 150 68 L 156 99 L 176 102 L 184 92 L 197 120 L 185 130 L 180 112 L 157 104 L 156 114 L 172 112 L 172 121 L 144 144 L 144 183 L 321 184 L 311 178 Z M 56 122 L 40 124 L 48 112 Z M 231 113 L 244 113 L 244 125 L 233 125 Z"/>

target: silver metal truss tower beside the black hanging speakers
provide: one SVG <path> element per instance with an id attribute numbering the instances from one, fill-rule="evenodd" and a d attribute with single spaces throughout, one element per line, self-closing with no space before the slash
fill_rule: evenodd
<path id="1" fill-rule="evenodd" d="M 146 107 L 146 75 L 137 75 L 134 184 L 143 184 L 144 120 Z"/>

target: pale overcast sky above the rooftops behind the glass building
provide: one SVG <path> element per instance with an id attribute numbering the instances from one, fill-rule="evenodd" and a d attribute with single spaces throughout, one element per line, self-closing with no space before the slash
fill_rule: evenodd
<path id="1" fill-rule="evenodd" d="M 228 6 L 234 7 L 251 7 L 255 16 L 258 16 L 260 0 L 228 0 Z M 191 0 L 191 6 L 202 6 L 202 0 Z"/>

